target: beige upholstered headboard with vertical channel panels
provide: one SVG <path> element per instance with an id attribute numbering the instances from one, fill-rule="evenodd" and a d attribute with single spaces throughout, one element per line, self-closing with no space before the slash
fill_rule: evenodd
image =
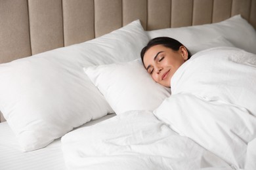
<path id="1" fill-rule="evenodd" d="M 152 30 L 236 14 L 256 28 L 256 0 L 0 0 L 0 63 L 88 41 L 137 19 Z"/>

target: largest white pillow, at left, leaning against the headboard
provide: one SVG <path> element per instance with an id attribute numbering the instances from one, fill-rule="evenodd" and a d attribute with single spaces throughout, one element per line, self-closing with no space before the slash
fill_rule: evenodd
<path id="1" fill-rule="evenodd" d="M 139 20 L 92 41 L 0 65 L 0 110 L 24 151 L 113 112 L 83 67 L 140 56 L 148 36 Z"/>

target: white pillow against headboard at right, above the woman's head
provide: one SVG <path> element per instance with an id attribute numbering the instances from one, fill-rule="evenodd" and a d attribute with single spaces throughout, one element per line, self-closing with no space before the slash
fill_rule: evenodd
<path id="1" fill-rule="evenodd" d="M 158 29 L 147 31 L 147 33 L 150 39 L 155 37 L 171 37 L 177 39 L 185 46 L 200 44 L 223 36 L 234 46 L 256 54 L 256 31 L 240 15 L 215 24 Z"/>

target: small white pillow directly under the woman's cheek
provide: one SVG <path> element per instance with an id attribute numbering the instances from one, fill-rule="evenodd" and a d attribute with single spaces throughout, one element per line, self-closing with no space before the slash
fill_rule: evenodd
<path id="1" fill-rule="evenodd" d="M 127 110 L 154 110 L 171 90 L 154 82 L 140 59 L 85 69 L 116 114 Z"/>

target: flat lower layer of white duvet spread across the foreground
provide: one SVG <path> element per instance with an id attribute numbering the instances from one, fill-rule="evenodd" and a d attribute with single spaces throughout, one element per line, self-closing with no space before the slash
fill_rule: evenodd
<path id="1" fill-rule="evenodd" d="M 61 141 L 68 169 L 232 169 L 145 110 L 125 112 L 77 129 Z"/>

